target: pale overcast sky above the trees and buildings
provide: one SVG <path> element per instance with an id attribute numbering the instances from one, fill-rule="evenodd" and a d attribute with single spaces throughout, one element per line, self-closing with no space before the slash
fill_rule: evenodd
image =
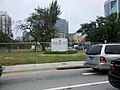
<path id="1" fill-rule="evenodd" d="M 6 11 L 12 21 L 24 20 L 38 6 L 49 7 L 53 0 L 0 0 L 0 11 Z M 95 21 L 97 16 L 104 16 L 106 0 L 58 0 L 62 14 L 60 18 L 69 23 L 69 33 L 75 33 L 80 24 Z"/>

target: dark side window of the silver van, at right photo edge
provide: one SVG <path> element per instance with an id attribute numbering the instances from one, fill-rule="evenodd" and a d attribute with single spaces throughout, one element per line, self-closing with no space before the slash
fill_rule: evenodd
<path id="1" fill-rule="evenodd" d="M 107 45 L 105 54 L 120 54 L 120 45 Z"/>

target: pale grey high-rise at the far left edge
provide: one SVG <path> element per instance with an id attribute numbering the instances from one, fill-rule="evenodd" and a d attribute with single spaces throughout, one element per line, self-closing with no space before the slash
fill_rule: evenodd
<path id="1" fill-rule="evenodd" d="M 5 11 L 0 11 L 0 30 L 9 36 L 12 35 L 11 17 Z"/>

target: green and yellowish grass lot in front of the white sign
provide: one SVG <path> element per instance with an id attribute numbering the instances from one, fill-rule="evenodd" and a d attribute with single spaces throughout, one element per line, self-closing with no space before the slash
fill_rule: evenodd
<path id="1" fill-rule="evenodd" d="M 85 52 L 78 51 L 76 54 L 43 54 L 39 51 L 37 54 L 32 50 L 12 50 L 0 51 L 0 64 L 2 65 L 18 65 L 18 64 L 34 64 L 36 63 L 53 63 L 84 60 Z"/>

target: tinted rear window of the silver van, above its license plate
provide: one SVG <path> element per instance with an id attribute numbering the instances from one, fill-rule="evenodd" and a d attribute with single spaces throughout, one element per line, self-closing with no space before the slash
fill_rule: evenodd
<path id="1" fill-rule="evenodd" d="M 86 52 L 87 55 L 97 55 L 101 53 L 102 45 L 92 46 Z"/>

